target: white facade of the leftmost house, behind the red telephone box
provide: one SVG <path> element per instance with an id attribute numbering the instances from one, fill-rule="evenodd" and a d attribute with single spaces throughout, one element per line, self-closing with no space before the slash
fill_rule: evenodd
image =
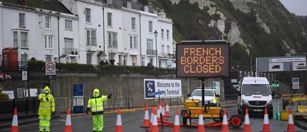
<path id="1" fill-rule="evenodd" d="M 0 17 L 2 18 L 0 47 L 2 49 L 17 48 L 18 61 L 24 61 L 25 53 L 27 60 L 57 61 L 58 42 L 60 42 L 60 56 L 63 55 L 64 50 L 67 50 L 65 49 L 67 47 L 64 46 L 64 39 L 72 41 L 72 46 L 79 48 L 78 18 L 72 14 L 31 9 L 25 6 L 4 6 L 2 2 L 0 2 L 0 12 L 2 15 Z M 65 29 L 65 20 L 71 21 L 72 24 L 69 26 L 71 29 Z M 59 31 L 58 25 L 60 25 Z M 77 55 L 71 58 L 78 62 Z"/>

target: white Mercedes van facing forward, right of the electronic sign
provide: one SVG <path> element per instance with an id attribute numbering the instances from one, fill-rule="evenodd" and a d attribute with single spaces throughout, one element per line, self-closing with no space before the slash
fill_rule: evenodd
<path id="1" fill-rule="evenodd" d="M 264 114 L 267 108 L 269 117 L 273 117 L 273 100 L 275 92 L 271 91 L 270 83 L 265 77 L 243 77 L 237 89 L 238 112 L 245 115 L 245 109 L 250 114 Z"/>

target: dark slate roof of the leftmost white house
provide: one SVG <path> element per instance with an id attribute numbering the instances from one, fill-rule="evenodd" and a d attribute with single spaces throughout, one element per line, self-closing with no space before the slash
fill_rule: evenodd
<path id="1" fill-rule="evenodd" d="M 21 6 L 29 6 L 45 10 L 52 10 L 66 14 L 72 14 L 61 2 L 58 0 L 28 0 L 27 5 L 24 5 L 20 0 L 0 0 L 1 2 L 16 4 Z"/>

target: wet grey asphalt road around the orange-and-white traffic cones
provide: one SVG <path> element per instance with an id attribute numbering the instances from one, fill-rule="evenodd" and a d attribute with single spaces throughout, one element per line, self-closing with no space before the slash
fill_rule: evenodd
<path id="1" fill-rule="evenodd" d="M 283 132 L 287 129 L 288 121 L 279 120 L 280 112 L 282 110 L 282 102 L 281 99 L 274 100 L 274 118 L 269 119 L 270 128 L 274 132 Z M 301 103 L 301 105 L 306 105 L 306 102 Z M 227 109 L 227 113 L 229 117 L 232 115 L 238 115 L 237 104 L 227 104 L 222 105 L 223 108 Z M 296 105 L 290 106 L 296 110 Z M 179 108 L 180 110 L 181 108 Z M 170 109 L 170 113 L 172 117 L 167 118 L 168 121 L 174 122 L 175 108 Z M 151 110 L 149 110 L 149 113 Z M 122 125 L 124 132 L 145 132 L 146 128 L 140 128 L 143 124 L 144 120 L 144 111 L 135 111 L 131 113 L 122 113 Z M 103 116 L 104 118 L 104 128 L 103 132 L 114 132 L 116 125 L 117 114 L 106 114 Z M 182 117 L 179 115 L 180 122 L 182 123 Z M 72 130 L 74 132 L 92 132 L 92 117 L 91 115 L 72 117 Z M 205 124 L 211 121 L 205 121 Z M 192 124 L 197 124 L 198 119 L 193 119 Z M 63 132 L 65 127 L 65 118 L 56 118 L 50 122 L 51 124 L 51 132 Z M 258 132 L 262 130 L 263 125 L 263 116 L 252 116 L 250 115 L 250 124 L 253 132 Z M 297 126 L 295 126 L 297 131 L 304 131 Z M 173 127 L 164 128 L 159 126 L 160 132 L 172 132 Z M 181 128 L 181 132 L 196 132 L 197 128 Z M 221 127 L 206 127 L 206 132 L 216 132 L 220 131 Z M 229 127 L 231 132 L 239 132 L 243 130 L 243 125 L 240 128 L 232 128 Z M 38 122 L 28 125 L 19 126 L 20 132 L 38 132 Z M 10 129 L 3 130 L 3 132 L 10 132 Z"/>

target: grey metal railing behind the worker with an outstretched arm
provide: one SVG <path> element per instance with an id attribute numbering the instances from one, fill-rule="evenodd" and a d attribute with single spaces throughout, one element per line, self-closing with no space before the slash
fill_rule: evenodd
<path id="1" fill-rule="evenodd" d="M 74 111 L 74 107 L 83 107 L 83 113 L 85 113 L 87 108 L 87 102 L 90 98 L 76 98 L 76 97 L 63 97 L 63 98 L 55 98 L 56 102 L 56 113 L 59 115 L 60 113 L 65 113 L 67 108 L 70 107 L 71 111 Z M 79 103 L 78 103 L 79 102 Z M 108 99 L 103 101 L 103 110 L 105 112 L 116 111 L 118 108 L 121 109 L 133 109 L 133 99 Z M 78 111 L 75 111 L 78 113 Z"/>

